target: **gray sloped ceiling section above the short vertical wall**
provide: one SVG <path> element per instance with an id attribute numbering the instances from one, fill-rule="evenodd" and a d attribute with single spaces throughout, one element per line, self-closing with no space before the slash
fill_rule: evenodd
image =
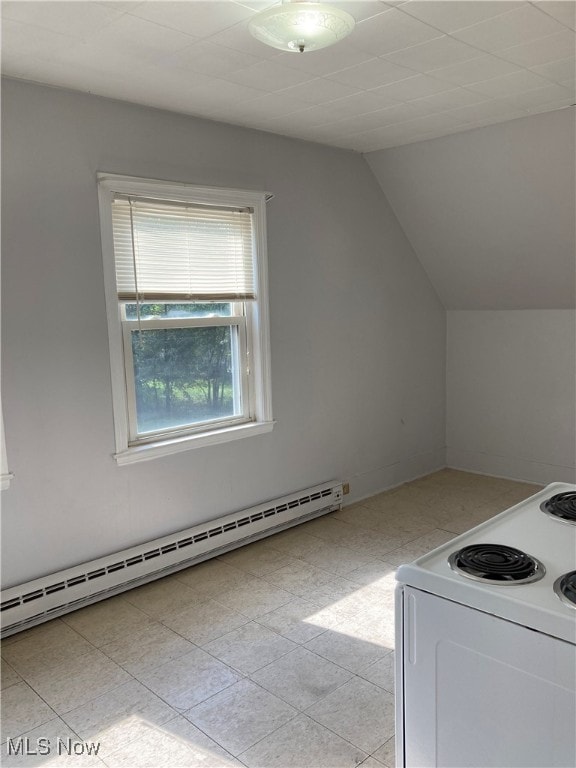
<path id="1" fill-rule="evenodd" d="M 575 306 L 575 117 L 365 156 L 447 309 Z"/>

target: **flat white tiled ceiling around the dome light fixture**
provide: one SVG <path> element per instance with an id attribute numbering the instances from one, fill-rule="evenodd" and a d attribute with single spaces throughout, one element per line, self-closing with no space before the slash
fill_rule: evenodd
<path id="1" fill-rule="evenodd" d="M 3 74 L 360 152 L 576 101 L 576 2 L 352 0 L 322 51 L 249 19 L 276 0 L 2 3 Z"/>

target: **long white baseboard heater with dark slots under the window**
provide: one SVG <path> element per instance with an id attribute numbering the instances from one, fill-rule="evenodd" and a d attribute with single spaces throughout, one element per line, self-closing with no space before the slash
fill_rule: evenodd
<path id="1" fill-rule="evenodd" d="M 339 509 L 341 503 L 342 484 L 324 483 L 3 590 L 1 636 L 270 536 Z"/>

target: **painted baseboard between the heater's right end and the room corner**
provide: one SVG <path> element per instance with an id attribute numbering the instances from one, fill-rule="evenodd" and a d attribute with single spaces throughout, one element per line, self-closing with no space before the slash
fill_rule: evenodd
<path id="1" fill-rule="evenodd" d="M 446 449 L 419 453 L 407 459 L 389 464 L 385 467 L 358 472 L 349 478 L 350 495 L 344 497 L 345 506 L 355 504 L 362 499 L 374 496 L 376 493 L 389 491 L 398 485 L 416 480 L 431 472 L 437 472 L 446 466 Z"/>

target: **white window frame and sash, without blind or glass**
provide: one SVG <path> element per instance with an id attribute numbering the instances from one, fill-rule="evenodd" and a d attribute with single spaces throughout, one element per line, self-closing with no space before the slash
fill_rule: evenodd
<path id="1" fill-rule="evenodd" d="M 203 187 L 177 182 L 156 181 L 131 176 L 98 173 L 98 197 L 100 207 L 100 225 L 102 235 L 102 253 L 104 258 L 104 288 L 108 317 L 110 345 L 110 371 L 112 380 L 112 402 L 114 409 L 114 431 L 118 464 L 132 464 L 180 451 L 206 445 L 236 440 L 252 435 L 270 432 L 273 428 L 271 376 L 270 376 L 270 332 L 268 317 L 268 274 L 266 254 L 266 199 L 264 192 L 249 190 Z M 240 368 L 243 377 L 242 390 L 247 394 L 248 402 L 241 418 L 229 419 L 223 425 L 213 422 L 209 425 L 194 426 L 186 430 L 174 430 L 170 436 L 151 437 L 146 441 L 134 441 L 131 423 L 135 423 L 135 404 L 133 386 L 127 375 L 130 363 L 131 346 L 126 343 L 126 334 L 135 321 L 126 320 L 123 304 L 118 300 L 116 287 L 116 268 L 114 259 L 114 239 L 112 229 L 112 201 L 115 194 L 127 194 L 134 197 L 153 197 L 155 199 L 185 201 L 203 205 L 250 207 L 253 209 L 254 246 L 256 252 L 255 285 L 256 299 L 243 302 L 244 323 L 239 329 L 241 357 Z M 162 321 L 162 327 L 172 324 L 175 327 L 201 325 L 238 325 L 238 316 L 231 318 L 185 318 Z M 158 321 L 141 321 L 142 328 L 153 327 Z M 137 323 L 137 321 L 136 321 Z M 245 363 L 245 364 L 244 364 Z"/>

